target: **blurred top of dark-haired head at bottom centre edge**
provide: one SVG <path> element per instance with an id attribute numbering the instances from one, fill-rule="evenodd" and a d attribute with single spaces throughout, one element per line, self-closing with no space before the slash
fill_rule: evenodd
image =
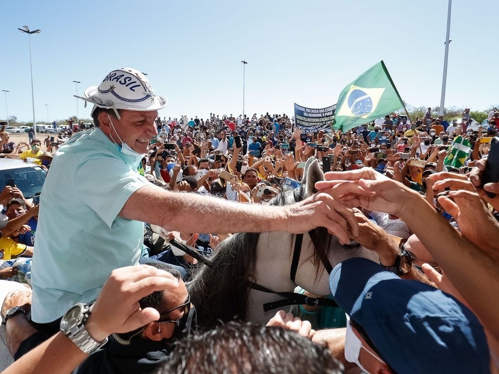
<path id="1" fill-rule="evenodd" d="M 191 335 L 156 374 L 342 373 L 325 347 L 284 330 L 229 322 Z"/>

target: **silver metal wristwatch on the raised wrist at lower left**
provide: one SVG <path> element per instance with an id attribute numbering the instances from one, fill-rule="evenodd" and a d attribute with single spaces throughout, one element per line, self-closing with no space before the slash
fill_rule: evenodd
<path id="1" fill-rule="evenodd" d="M 66 312 L 60 324 L 60 331 L 86 354 L 91 354 L 107 343 L 107 338 L 102 342 L 95 341 L 85 329 L 90 313 L 87 304 L 78 303 Z"/>

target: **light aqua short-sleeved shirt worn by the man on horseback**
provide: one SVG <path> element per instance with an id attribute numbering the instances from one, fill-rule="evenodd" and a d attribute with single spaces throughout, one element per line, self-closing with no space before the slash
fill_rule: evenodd
<path id="1" fill-rule="evenodd" d="M 113 269 L 138 263 L 144 224 L 118 216 L 149 182 L 140 158 L 122 154 L 99 129 L 60 147 L 40 195 L 31 280 L 32 319 L 47 323 L 95 300 Z"/>

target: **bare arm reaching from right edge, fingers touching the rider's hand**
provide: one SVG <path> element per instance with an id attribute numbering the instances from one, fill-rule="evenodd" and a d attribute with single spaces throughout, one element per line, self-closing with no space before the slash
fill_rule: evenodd
<path id="1" fill-rule="evenodd" d="M 499 299 L 490 297 L 499 295 L 499 266 L 493 258 L 456 231 L 418 192 L 371 169 L 330 172 L 325 179 L 315 187 L 327 189 L 347 206 L 362 206 L 400 217 L 442 266 L 477 316 L 499 337 Z"/>

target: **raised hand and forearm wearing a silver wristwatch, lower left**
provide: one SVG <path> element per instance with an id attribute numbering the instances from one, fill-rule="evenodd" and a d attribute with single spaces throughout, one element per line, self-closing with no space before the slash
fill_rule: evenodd
<path id="1" fill-rule="evenodd" d="M 159 312 L 140 309 L 139 300 L 177 284 L 170 273 L 147 265 L 113 270 L 95 304 L 71 307 L 62 317 L 59 333 L 22 356 L 3 374 L 70 373 L 102 347 L 109 335 L 157 321 Z"/>

